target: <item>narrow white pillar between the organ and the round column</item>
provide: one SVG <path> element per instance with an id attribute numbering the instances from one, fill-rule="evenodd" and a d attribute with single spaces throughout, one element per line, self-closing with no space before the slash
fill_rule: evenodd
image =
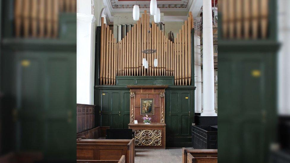
<path id="1" fill-rule="evenodd" d="M 200 17 L 195 22 L 194 29 L 194 91 L 195 96 L 195 113 L 201 113 L 201 53 L 200 53 L 200 31 L 197 22 L 200 21 Z"/>

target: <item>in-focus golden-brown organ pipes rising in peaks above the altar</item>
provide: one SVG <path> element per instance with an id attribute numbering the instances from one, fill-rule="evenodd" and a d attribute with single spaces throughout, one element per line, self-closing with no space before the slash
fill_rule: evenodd
<path id="1" fill-rule="evenodd" d="M 127 32 L 125 38 L 116 42 L 102 18 L 100 85 L 115 85 L 116 76 L 174 76 L 175 85 L 190 85 L 192 28 L 190 12 L 177 38 L 174 42 L 170 41 L 163 31 L 157 29 L 156 23 L 152 22 L 152 27 L 149 27 L 149 14 L 145 10 L 141 20 Z M 142 53 L 145 49 L 155 49 L 157 52 Z M 142 65 L 143 58 L 148 61 L 147 69 Z M 158 60 L 157 67 L 154 67 L 155 58 Z"/>

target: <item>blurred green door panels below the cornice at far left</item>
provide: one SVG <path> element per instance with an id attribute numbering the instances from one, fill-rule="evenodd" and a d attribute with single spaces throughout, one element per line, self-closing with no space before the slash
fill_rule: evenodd
<path id="1" fill-rule="evenodd" d="M 71 144 L 76 138 L 75 56 L 75 52 L 2 52 L 1 68 L 8 73 L 2 74 L 1 90 L 15 97 L 11 108 L 15 132 L 5 138 L 15 144 L 13 151 L 41 151 L 44 159 L 75 160 Z"/>

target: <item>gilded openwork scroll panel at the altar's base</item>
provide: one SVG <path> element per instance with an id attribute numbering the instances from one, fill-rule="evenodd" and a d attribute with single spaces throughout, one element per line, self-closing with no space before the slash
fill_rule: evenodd
<path id="1" fill-rule="evenodd" d="M 137 146 L 161 146 L 161 129 L 135 130 L 135 145 Z"/>

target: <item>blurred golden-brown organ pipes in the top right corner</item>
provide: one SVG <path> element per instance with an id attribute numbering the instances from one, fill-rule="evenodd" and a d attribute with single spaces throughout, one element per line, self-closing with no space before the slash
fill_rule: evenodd
<path id="1" fill-rule="evenodd" d="M 269 0 L 220 0 L 225 39 L 266 39 Z"/>

